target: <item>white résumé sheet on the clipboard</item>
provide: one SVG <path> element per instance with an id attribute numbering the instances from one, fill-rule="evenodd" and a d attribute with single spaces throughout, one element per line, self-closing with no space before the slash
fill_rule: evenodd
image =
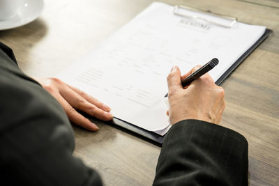
<path id="1" fill-rule="evenodd" d="M 174 15 L 173 8 L 152 3 L 57 77 L 109 105 L 116 118 L 165 134 L 164 95 L 172 66 L 186 73 L 218 58 L 209 72 L 216 81 L 266 29 L 240 22 L 225 28 Z"/>

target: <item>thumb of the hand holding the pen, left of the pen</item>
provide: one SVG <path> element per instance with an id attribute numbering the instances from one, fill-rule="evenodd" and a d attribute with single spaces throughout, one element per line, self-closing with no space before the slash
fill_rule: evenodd
<path id="1" fill-rule="evenodd" d="M 169 75 L 167 76 L 167 86 L 169 87 L 169 93 L 182 88 L 181 72 L 176 65 L 172 67 L 171 72 L 169 72 Z"/>

